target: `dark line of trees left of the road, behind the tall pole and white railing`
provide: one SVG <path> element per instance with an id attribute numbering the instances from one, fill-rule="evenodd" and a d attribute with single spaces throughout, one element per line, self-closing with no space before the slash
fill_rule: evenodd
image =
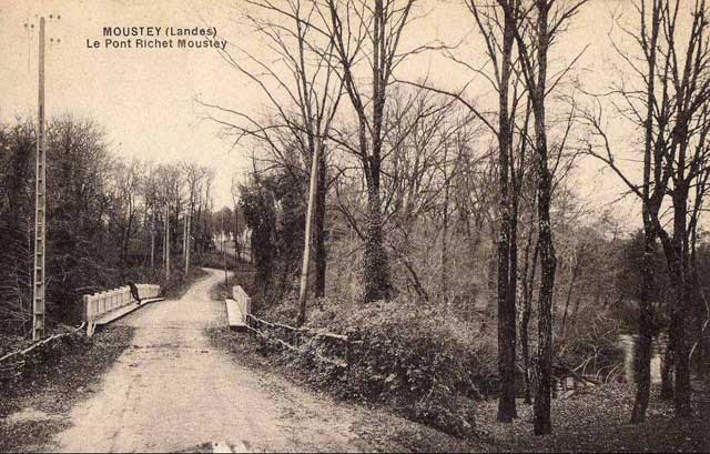
<path id="1" fill-rule="evenodd" d="M 4 334 L 27 333 L 32 323 L 36 141 L 30 120 L 0 124 Z M 77 322 L 82 294 L 128 281 L 175 285 L 189 271 L 189 251 L 214 248 L 221 230 L 213 214 L 214 170 L 126 159 L 112 150 L 99 124 L 70 114 L 48 122 L 47 149 L 49 321 Z"/>

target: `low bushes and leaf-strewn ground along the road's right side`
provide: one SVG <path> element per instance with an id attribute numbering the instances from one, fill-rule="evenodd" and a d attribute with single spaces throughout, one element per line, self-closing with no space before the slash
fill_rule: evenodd
<path id="1" fill-rule="evenodd" d="M 224 283 L 213 287 L 212 297 L 224 300 L 232 285 L 254 287 L 254 272 L 241 264 L 229 290 Z M 264 307 L 253 302 L 256 315 L 288 324 L 296 316 L 297 302 Z M 405 310 L 402 310 L 402 309 Z M 625 320 L 628 311 L 615 315 Z M 518 376 L 519 416 L 513 424 L 496 420 L 498 379 L 496 376 L 495 337 L 486 326 L 440 317 L 430 309 L 404 306 L 402 301 L 382 302 L 366 307 L 327 299 L 314 301 L 310 320 L 303 327 L 317 332 L 346 334 L 363 340 L 351 352 L 347 370 L 316 356 L 345 359 L 342 346 L 303 337 L 300 353 L 285 349 L 278 333 L 237 333 L 226 327 L 210 330 L 216 346 L 231 351 L 236 361 L 270 373 L 280 373 L 317 392 L 326 392 L 345 402 L 355 402 L 394 412 L 440 432 L 428 433 L 428 442 L 418 435 L 410 444 L 413 452 L 707 452 L 706 417 L 710 411 L 710 390 L 702 381 L 693 382 L 693 413 L 689 418 L 673 417 L 672 401 L 661 398 L 660 384 L 652 386 L 648 421 L 629 423 L 635 389 L 623 377 L 623 351 L 616 334 L 597 331 L 581 347 L 560 355 L 575 364 L 585 353 L 599 352 L 601 373 L 590 376 L 598 384 L 578 383 L 572 392 L 561 390 L 552 400 L 552 415 L 558 426 L 551 437 L 532 436 L 532 406 L 524 402 L 524 380 Z M 632 317 L 630 319 L 632 321 Z M 619 332 L 620 322 L 609 322 Z M 630 322 L 629 322 L 630 323 Z M 462 333 L 476 333 L 466 336 Z M 608 336 L 608 337 L 607 337 Z M 615 371 L 619 371 L 616 373 Z M 609 374 L 611 373 L 611 374 Z M 590 374 L 591 375 L 591 374 Z M 437 435 L 438 433 L 438 435 Z M 446 438 L 444 434 L 454 435 Z M 389 433 L 389 436 L 394 434 Z M 409 434 L 414 436 L 415 434 Z M 458 440 L 452 444 L 452 440 Z M 439 445 L 439 443 L 444 443 Z M 428 447 L 427 447 L 428 446 Z"/>

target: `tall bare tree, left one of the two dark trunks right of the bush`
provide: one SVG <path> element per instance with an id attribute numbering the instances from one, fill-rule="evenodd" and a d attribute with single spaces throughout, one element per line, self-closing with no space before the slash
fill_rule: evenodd
<path id="1" fill-rule="evenodd" d="M 515 360 L 516 360 L 516 301 L 518 285 L 517 225 L 519 195 L 525 174 L 525 153 L 527 137 L 527 114 L 524 112 L 524 125 L 516 130 L 516 118 L 525 111 L 526 85 L 519 58 L 516 56 L 516 28 L 519 27 L 523 2 L 519 0 L 477 1 L 467 0 L 466 6 L 484 39 L 486 57 L 490 71 L 480 68 L 447 52 L 449 60 L 465 67 L 474 75 L 481 75 L 497 94 L 495 120 L 480 108 L 465 100 L 462 92 L 452 92 L 428 87 L 429 90 L 445 93 L 462 101 L 475 118 L 478 118 L 494 134 L 497 142 L 498 203 L 499 218 L 497 231 L 497 294 L 498 294 L 498 369 L 500 374 L 500 398 L 498 415 L 500 422 L 511 422 L 517 416 L 515 402 Z M 426 87 L 422 83 L 412 83 Z M 524 105 L 524 108 L 520 108 Z M 521 132 L 516 147 L 516 135 Z M 514 152 L 514 149 L 515 152 Z M 516 161 L 515 154 L 518 155 Z M 517 163 L 517 165 L 516 165 Z"/>

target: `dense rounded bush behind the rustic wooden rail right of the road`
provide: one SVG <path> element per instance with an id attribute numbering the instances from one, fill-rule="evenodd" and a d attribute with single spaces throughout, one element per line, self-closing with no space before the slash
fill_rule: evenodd
<path id="1" fill-rule="evenodd" d="M 296 361 L 339 393 L 387 404 L 404 416 L 454 435 L 470 435 L 478 383 L 495 374 L 495 345 L 477 330 L 436 309 L 398 299 L 349 306 L 321 300 L 307 327 L 346 334 L 349 370 L 303 355 Z M 293 304 L 288 304 L 288 309 Z M 271 314 L 291 313 L 286 307 Z M 346 357 L 345 345 L 306 337 L 313 354 Z"/>

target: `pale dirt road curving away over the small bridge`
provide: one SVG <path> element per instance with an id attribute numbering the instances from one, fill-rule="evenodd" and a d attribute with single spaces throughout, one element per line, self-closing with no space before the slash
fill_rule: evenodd
<path id="1" fill-rule="evenodd" d="M 369 451 L 353 431 L 364 411 L 246 369 L 211 346 L 204 330 L 225 323 L 224 304 L 210 299 L 222 276 L 211 271 L 182 299 L 116 322 L 135 327 L 132 347 L 72 408 L 70 427 L 47 448 Z"/>

